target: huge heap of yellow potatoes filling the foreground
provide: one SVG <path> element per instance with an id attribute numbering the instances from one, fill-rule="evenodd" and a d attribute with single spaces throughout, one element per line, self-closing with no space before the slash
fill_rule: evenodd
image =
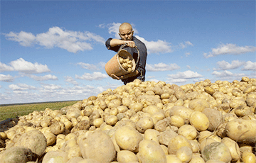
<path id="1" fill-rule="evenodd" d="M 135 81 L 0 132 L 0 160 L 255 163 L 256 79 Z"/>

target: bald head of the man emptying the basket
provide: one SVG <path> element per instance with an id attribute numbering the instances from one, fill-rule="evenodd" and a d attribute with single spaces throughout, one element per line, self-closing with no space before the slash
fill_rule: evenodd
<path id="1" fill-rule="evenodd" d="M 122 40 L 132 40 L 133 33 L 132 25 L 129 23 L 122 23 L 119 26 L 119 36 Z"/>

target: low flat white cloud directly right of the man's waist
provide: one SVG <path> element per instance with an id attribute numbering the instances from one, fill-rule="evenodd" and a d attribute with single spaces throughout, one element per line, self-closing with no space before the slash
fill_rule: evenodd
<path id="1" fill-rule="evenodd" d="M 177 64 L 146 64 L 146 70 L 149 72 L 163 72 L 163 71 L 172 71 L 174 69 L 180 69 Z"/>

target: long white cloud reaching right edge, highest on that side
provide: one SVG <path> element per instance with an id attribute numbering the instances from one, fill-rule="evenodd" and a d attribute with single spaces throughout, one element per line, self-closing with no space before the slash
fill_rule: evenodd
<path id="1" fill-rule="evenodd" d="M 229 44 L 227 43 L 226 45 L 221 44 L 217 48 L 213 48 L 211 52 L 204 53 L 203 55 L 208 58 L 208 57 L 215 57 L 217 55 L 240 55 L 246 52 L 255 52 L 256 47 L 254 46 L 238 46 L 235 44 Z"/>

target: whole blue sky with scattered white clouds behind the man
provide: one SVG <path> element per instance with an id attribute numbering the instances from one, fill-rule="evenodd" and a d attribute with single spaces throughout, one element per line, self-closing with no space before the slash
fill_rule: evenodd
<path id="1" fill-rule="evenodd" d="M 146 81 L 256 77 L 255 1 L 1 1 L 0 104 L 82 100 L 107 76 L 105 40 L 131 23 Z"/>

